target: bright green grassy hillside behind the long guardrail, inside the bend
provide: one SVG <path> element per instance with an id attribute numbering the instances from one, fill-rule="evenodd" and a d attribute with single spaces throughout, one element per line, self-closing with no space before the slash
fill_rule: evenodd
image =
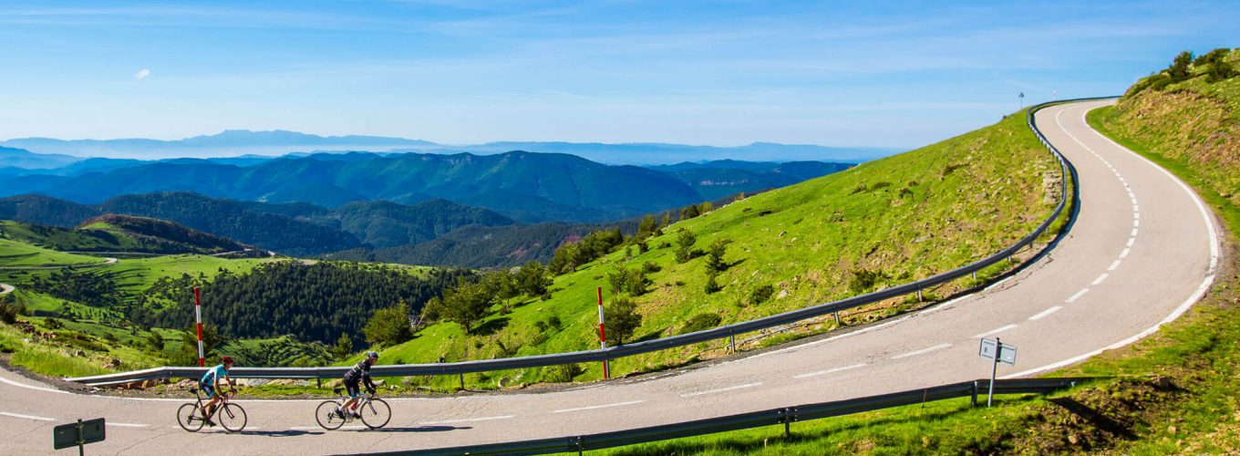
<path id="1" fill-rule="evenodd" d="M 870 289 L 926 278 L 997 252 L 1030 232 L 1054 207 L 1058 173 L 1054 160 L 1024 125 L 1022 112 L 993 126 L 678 222 L 649 239 L 651 250 L 645 254 L 632 249 L 634 256 L 626 258 L 621 249 L 557 278 L 551 300 L 527 299 L 513 302 L 511 314 L 496 312 L 481 325 L 481 335 L 466 336 L 456 323 L 433 325 L 415 340 L 386 349 L 382 359 L 422 363 L 439 357 L 463 361 L 595 348 L 594 290 L 604 286 L 605 299 L 614 297 L 606 273 L 616 265 L 634 269 L 650 261 L 661 268 L 650 274 L 650 292 L 634 297 L 644 316 L 637 338 L 680 333 L 699 314 L 718 315 L 728 323 L 851 296 L 856 292 L 849 280 L 859 270 L 882 273 Z M 732 240 L 724 256 L 732 266 L 717 279 L 722 291 L 703 292 L 704 258 L 678 264 L 675 247 L 661 247 L 675 245 L 681 229 L 697 235 L 698 249 L 715 239 Z M 774 287 L 774 296 L 749 302 L 750 292 L 764 285 Z M 942 296 L 971 285 L 954 283 L 930 294 Z M 847 312 L 844 320 L 872 321 L 909 306 L 906 300 L 894 300 Z M 539 330 L 539 322 L 552 316 L 560 327 Z M 810 330 L 832 326 L 821 322 Z M 698 344 L 624 358 L 613 363 L 613 373 L 658 369 L 722 353 L 717 348 L 718 343 Z M 476 387 L 565 380 L 562 370 L 479 374 L 469 380 Z M 569 377 L 596 379 L 601 373 L 589 366 Z"/>

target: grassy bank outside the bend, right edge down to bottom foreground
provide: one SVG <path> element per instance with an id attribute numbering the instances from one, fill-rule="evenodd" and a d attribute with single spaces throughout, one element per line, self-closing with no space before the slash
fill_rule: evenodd
<path id="1" fill-rule="evenodd" d="M 1240 51 L 1228 59 L 1240 67 Z M 1049 374 L 1123 379 L 1049 398 L 1003 399 L 994 409 L 970 409 L 956 400 L 818 420 L 794 425 L 791 439 L 773 426 L 608 454 L 1240 452 L 1238 83 L 1240 78 L 1210 83 L 1198 77 L 1164 89 L 1130 89 L 1115 108 L 1087 116 L 1102 134 L 1192 185 L 1228 230 L 1215 285 L 1188 314 L 1138 343 Z"/>

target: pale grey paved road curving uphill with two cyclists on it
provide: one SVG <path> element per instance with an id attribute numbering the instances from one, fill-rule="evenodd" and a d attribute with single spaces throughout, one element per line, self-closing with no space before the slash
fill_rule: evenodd
<path id="1" fill-rule="evenodd" d="M 1174 320 L 1213 281 L 1214 217 L 1187 186 L 1085 124 L 1109 102 L 1037 114 L 1079 170 L 1069 235 L 985 291 L 848 333 L 712 366 L 546 394 L 394 399 L 384 431 L 325 432 L 315 401 L 248 400 L 249 428 L 188 434 L 181 400 L 86 397 L 0 370 L 0 435 L 16 452 L 47 452 L 55 424 L 104 416 L 99 452 L 325 454 L 553 437 L 837 400 L 986 377 L 980 337 L 1017 346 L 1029 375 L 1136 341 Z"/>

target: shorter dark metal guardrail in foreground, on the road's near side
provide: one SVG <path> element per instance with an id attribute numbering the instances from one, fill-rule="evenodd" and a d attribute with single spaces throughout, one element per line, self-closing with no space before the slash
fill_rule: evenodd
<path id="1" fill-rule="evenodd" d="M 1097 378 L 1045 378 L 996 380 L 994 394 L 1037 393 L 1047 394 L 1075 387 L 1078 383 Z M 822 418 L 842 416 L 862 411 L 880 410 L 901 405 L 916 405 L 935 400 L 977 397 L 988 393 L 990 380 L 952 383 L 941 387 L 910 389 L 906 392 L 879 394 L 866 398 L 844 399 L 830 403 L 806 404 L 779 409 L 750 411 L 737 415 L 708 418 L 703 420 L 665 424 L 650 428 L 627 429 L 621 431 L 573 435 L 563 437 L 525 440 L 501 444 L 470 445 L 432 450 L 410 450 L 378 452 L 373 455 L 542 455 L 552 452 L 580 452 L 614 446 L 644 444 L 658 440 L 689 437 L 696 435 L 784 425 L 784 432 L 791 434 L 791 424 Z"/>

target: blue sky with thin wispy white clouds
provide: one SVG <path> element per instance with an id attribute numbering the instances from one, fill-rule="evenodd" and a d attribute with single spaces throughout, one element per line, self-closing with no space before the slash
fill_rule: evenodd
<path id="1" fill-rule="evenodd" d="M 916 147 L 1120 94 L 1236 24 L 1234 1 L 0 1 L 0 139 Z"/>

